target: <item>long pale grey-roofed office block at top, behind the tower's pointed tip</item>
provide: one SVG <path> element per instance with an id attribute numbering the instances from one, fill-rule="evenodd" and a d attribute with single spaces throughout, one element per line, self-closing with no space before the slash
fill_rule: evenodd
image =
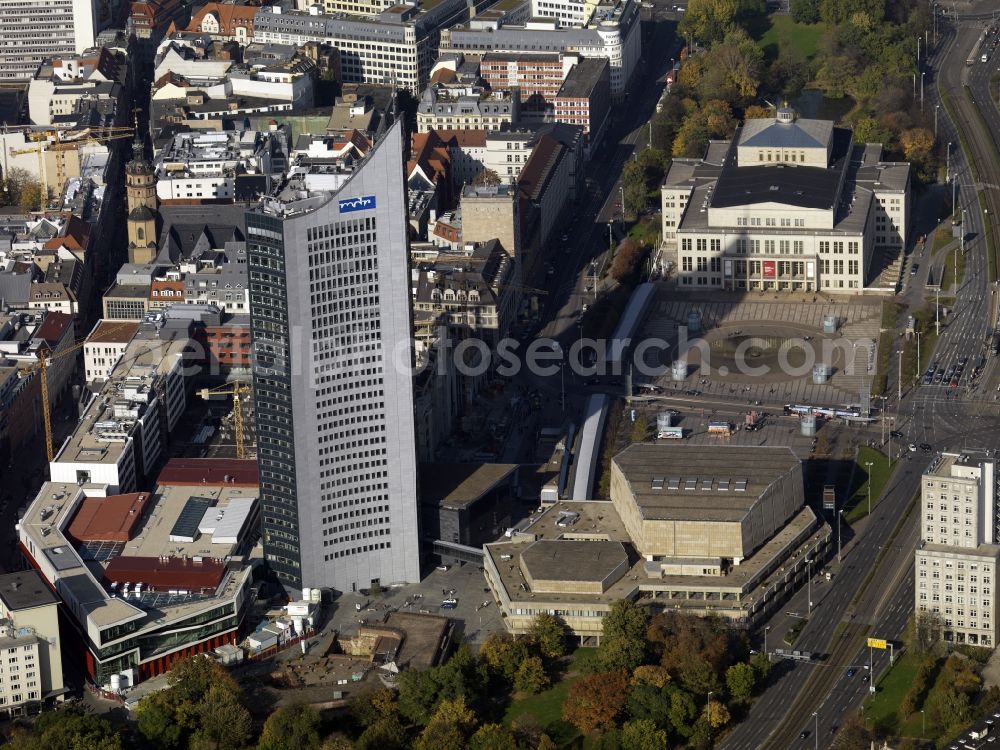
<path id="1" fill-rule="evenodd" d="M 272 5 L 257 11 L 253 27 L 258 42 L 333 45 L 340 50 L 344 83 L 393 85 L 416 96 L 427 84 L 441 29 L 468 16 L 465 0 L 391 5 L 373 17 L 323 15 L 317 6 L 303 12 Z"/>

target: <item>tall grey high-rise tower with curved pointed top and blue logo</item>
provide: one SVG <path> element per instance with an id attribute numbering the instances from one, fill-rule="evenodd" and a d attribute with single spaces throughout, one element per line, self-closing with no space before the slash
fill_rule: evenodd
<path id="1" fill-rule="evenodd" d="M 264 553 L 292 589 L 419 577 L 401 139 L 247 213 Z"/>

